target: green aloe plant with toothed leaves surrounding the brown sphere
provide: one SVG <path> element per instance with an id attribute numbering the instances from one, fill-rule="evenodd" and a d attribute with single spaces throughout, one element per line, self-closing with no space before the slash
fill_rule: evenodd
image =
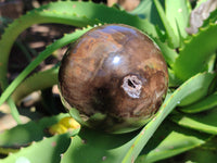
<path id="1" fill-rule="evenodd" d="M 144 11 L 144 7 L 149 10 Z M 29 11 L 11 23 L 0 40 L 0 85 L 3 90 L 0 104 L 8 102 L 18 125 L 0 134 L 0 152 L 11 153 L 0 161 L 146 163 L 183 152 L 190 161 L 197 161 L 199 147 L 206 147 L 209 141 L 216 143 L 217 17 L 214 10 L 199 32 L 191 35 L 186 28 L 192 10 L 188 0 L 141 0 L 130 13 L 93 2 L 58 1 Z M 9 85 L 7 73 L 13 42 L 27 27 L 40 23 L 82 28 L 65 34 L 48 46 Z M 148 34 L 161 48 L 169 68 L 169 90 L 156 115 L 143 128 L 123 135 L 85 127 L 80 131 L 49 135 L 48 128 L 68 113 L 21 124 L 16 102 L 35 90 L 58 83 L 59 64 L 29 76 L 33 70 L 53 51 L 75 41 L 93 26 L 110 23 L 133 26 Z M 215 162 L 215 156 L 210 161 Z"/>

